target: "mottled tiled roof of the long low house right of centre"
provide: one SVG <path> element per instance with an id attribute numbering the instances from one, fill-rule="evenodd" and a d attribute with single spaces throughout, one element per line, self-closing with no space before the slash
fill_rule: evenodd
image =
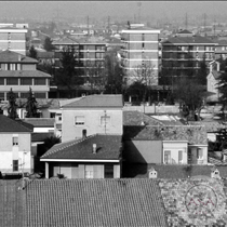
<path id="1" fill-rule="evenodd" d="M 191 145 L 208 145 L 204 126 L 124 126 L 125 141 L 187 141 Z"/>

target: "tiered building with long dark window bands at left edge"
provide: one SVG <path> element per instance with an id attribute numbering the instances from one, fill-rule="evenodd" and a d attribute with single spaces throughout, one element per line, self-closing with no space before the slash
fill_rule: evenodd
<path id="1" fill-rule="evenodd" d="M 6 99 L 12 89 L 17 97 L 26 98 L 31 88 L 35 97 L 48 98 L 51 76 L 37 70 L 37 61 L 25 55 L 0 53 L 0 98 Z"/>

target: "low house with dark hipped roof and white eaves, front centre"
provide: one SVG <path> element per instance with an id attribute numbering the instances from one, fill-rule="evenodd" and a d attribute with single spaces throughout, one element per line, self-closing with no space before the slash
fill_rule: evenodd
<path id="1" fill-rule="evenodd" d="M 45 177 L 120 178 L 121 135 L 95 134 L 54 145 L 40 159 Z"/>

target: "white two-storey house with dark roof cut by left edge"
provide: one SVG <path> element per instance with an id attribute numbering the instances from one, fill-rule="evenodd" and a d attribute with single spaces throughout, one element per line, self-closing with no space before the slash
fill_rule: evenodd
<path id="1" fill-rule="evenodd" d="M 31 133 L 31 125 L 0 115 L 1 173 L 32 172 Z"/>

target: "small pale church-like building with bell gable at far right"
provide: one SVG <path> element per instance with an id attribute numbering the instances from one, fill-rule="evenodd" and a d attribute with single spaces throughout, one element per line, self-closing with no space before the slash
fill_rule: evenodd
<path id="1" fill-rule="evenodd" d="M 219 97 L 218 92 L 218 79 L 221 76 L 219 71 L 219 63 L 218 62 L 211 62 L 210 64 L 210 72 L 206 77 L 206 90 L 208 92 L 211 92 L 211 94 L 208 96 L 208 101 L 217 102 Z"/>

